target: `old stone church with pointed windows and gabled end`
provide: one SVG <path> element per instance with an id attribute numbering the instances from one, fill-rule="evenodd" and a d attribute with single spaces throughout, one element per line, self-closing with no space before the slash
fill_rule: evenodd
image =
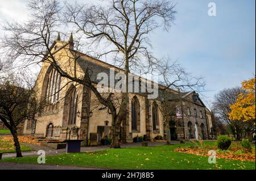
<path id="1" fill-rule="evenodd" d="M 61 41 L 58 37 L 51 52 L 61 68 L 72 76 L 81 77 L 86 68 L 92 71 L 91 78 L 94 80 L 98 73 L 108 73 L 109 69 L 123 71 L 77 52 L 72 34 L 68 41 Z M 24 121 L 24 135 L 53 140 L 85 139 L 86 145 L 100 144 L 102 138 L 111 136 L 112 116 L 108 108 L 98 103 L 96 95 L 88 87 L 61 77 L 49 62 L 43 62 L 34 89 L 36 99 L 45 100 L 46 104 L 35 120 Z M 166 91 L 177 94 L 171 89 Z M 191 91 L 183 92 L 181 96 L 183 108 L 177 109 L 176 114 L 168 118 L 167 125 L 159 109 L 160 98 L 148 100 L 143 94 L 129 93 L 127 120 L 122 123 L 122 142 L 133 142 L 137 136 L 154 141 L 156 136 L 166 137 L 167 134 L 171 140 L 210 139 L 210 112 L 199 94 Z"/>

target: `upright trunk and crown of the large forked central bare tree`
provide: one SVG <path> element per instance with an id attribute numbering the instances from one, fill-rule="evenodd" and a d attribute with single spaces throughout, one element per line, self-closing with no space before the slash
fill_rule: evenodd
<path id="1" fill-rule="evenodd" d="M 166 0 L 113 0 L 104 7 L 78 4 L 66 4 L 65 7 L 64 21 L 75 24 L 77 32 L 82 32 L 90 40 L 90 47 L 105 44 L 105 51 L 96 53 L 98 57 L 112 56 L 115 64 L 124 69 L 126 90 L 131 70 L 148 73 L 159 64 L 158 59 L 148 50 L 148 35 L 162 25 L 168 30 L 176 12 L 175 5 Z M 113 116 L 113 148 L 119 148 L 119 130 L 126 120 L 129 103 L 127 92 L 122 92 L 121 99 L 118 111 L 114 106 L 105 105 Z"/>

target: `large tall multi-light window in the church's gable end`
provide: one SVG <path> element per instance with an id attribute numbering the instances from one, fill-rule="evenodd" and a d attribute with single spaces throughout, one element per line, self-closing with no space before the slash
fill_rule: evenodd
<path id="1" fill-rule="evenodd" d="M 60 74 L 57 73 L 55 69 L 49 72 L 47 90 L 46 90 L 46 100 L 49 104 L 54 104 L 59 100 L 60 92 Z"/>

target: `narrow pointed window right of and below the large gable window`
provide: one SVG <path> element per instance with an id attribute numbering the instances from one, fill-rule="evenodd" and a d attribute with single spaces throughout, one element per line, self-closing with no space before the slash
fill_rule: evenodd
<path id="1" fill-rule="evenodd" d="M 78 95 L 76 89 L 73 90 L 72 96 L 69 100 L 69 119 L 68 124 L 76 124 L 76 110 L 77 110 L 77 99 Z"/>

